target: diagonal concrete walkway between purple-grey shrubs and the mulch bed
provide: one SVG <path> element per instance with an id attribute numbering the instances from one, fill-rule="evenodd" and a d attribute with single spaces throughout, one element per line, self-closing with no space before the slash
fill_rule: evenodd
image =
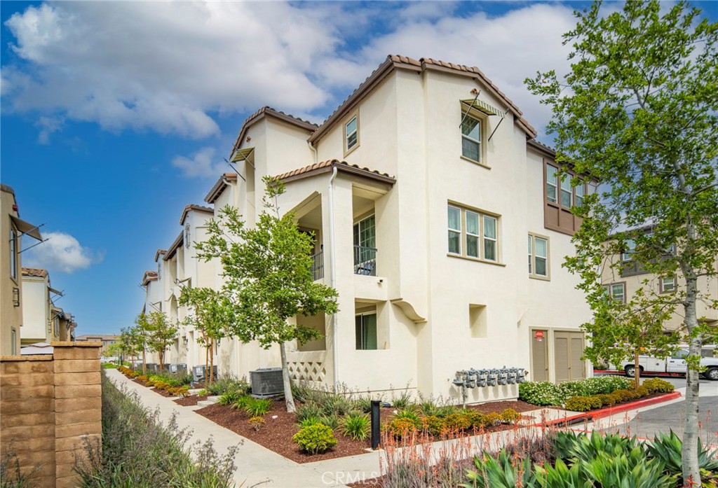
<path id="1" fill-rule="evenodd" d="M 240 446 L 235 457 L 236 471 L 234 482 L 237 488 L 249 487 L 282 487 L 282 488 L 319 488 L 344 487 L 344 484 L 335 482 L 340 479 L 334 473 L 325 474 L 322 467 L 310 464 L 297 464 L 266 449 L 255 442 L 245 439 L 233 431 L 218 426 L 189 408 L 177 405 L 172 398 L 166 398 L 130 381 L 116 369 L 105 370 L 108 378 L 119 388 L 124 387 L 131 393 L 136 393 L 145 408 L 154 411 L 159 408 L 160 418 L 166 421 L 172 412 L 177 412 L 177 424 L 180 429 L 190 429 L 192 436 L 190 442 L 204 442 L 212 437 L 215 449 L 225 454 L 230 446 Z M 378 471 L 378 454 L 376 456 L 376 469 Z M 358 456 L 360 457 L 360 456 Z M 319 464 L 319 463 L 314 463 Z"/>

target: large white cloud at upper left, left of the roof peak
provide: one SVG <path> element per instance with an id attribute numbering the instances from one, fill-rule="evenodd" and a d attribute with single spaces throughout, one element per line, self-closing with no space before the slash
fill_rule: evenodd
<path id="1" fill-rule="evenodd" d="M 310 110 L 309 79 L 338 42 L 325 16 L 266 2 L 61 2 L 6 21 L 24 60 L 4 66 L 4 108 L 66 114 L 109 130 L 218 133 L 208 112 Z"/>

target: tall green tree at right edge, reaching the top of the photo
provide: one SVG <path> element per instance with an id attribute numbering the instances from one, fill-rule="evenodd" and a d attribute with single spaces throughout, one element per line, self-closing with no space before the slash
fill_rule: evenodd
<path id="1" fill-rule="evenodd" d="M 696 302 L 712 300 L 698 280 L 715 276 L 718 254 L 718 24 L 684 1 L 664 12 L 656 0 L 622 7 L 608 13 L 596 2 L 576 12 L 577 26 L 564 36 L 572 46 L 568 75 L 559 80 L 550 71 L 526 82 L 552 108 L 557 161 L 605 183 L 601 195 L 574 209 L 583 224 L 566 264 L 602 321 L 587 325 L 595 343 L 610 347 L 614 331 L 602 317 L 608 308 L 660 321 L 680 307 L 690 352 L 683 476 L 700 486 L 700 349 L 715 330 L 697 316 Z M 681 286 L 659 296 L 644 283 L 643 296 L 620 310 L 604 298 L 600 267 L 632 244 L 646 271 L 677 276 Z"/>

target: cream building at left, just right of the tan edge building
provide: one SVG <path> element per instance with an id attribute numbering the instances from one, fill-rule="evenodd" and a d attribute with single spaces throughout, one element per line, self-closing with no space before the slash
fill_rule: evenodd
<path id="1" fill-rule="evenodd" d="M 65 312 L 52 303 L 53 297 L 60 296 L 50 286 L 47 269 L 22 268 L 22 345 L 60 340 L 60 319 Z"/>

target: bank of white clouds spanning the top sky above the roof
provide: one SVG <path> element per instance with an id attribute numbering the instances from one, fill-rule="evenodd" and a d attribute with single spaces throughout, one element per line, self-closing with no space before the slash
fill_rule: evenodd
<path id="1" fill-rule="evenodd" d="M 206 138 L 213 116 L 263 105 L 322 118 L 404 54 L 480 67 L 540 129 L 549 109 L 523 79 L 568 67 L 574 24 L 562 4 L 489 16 L 454 2 L 46 3 L 6 21 L 22 61 L 2 67 L 0 90 L 4 110 Z"/>

